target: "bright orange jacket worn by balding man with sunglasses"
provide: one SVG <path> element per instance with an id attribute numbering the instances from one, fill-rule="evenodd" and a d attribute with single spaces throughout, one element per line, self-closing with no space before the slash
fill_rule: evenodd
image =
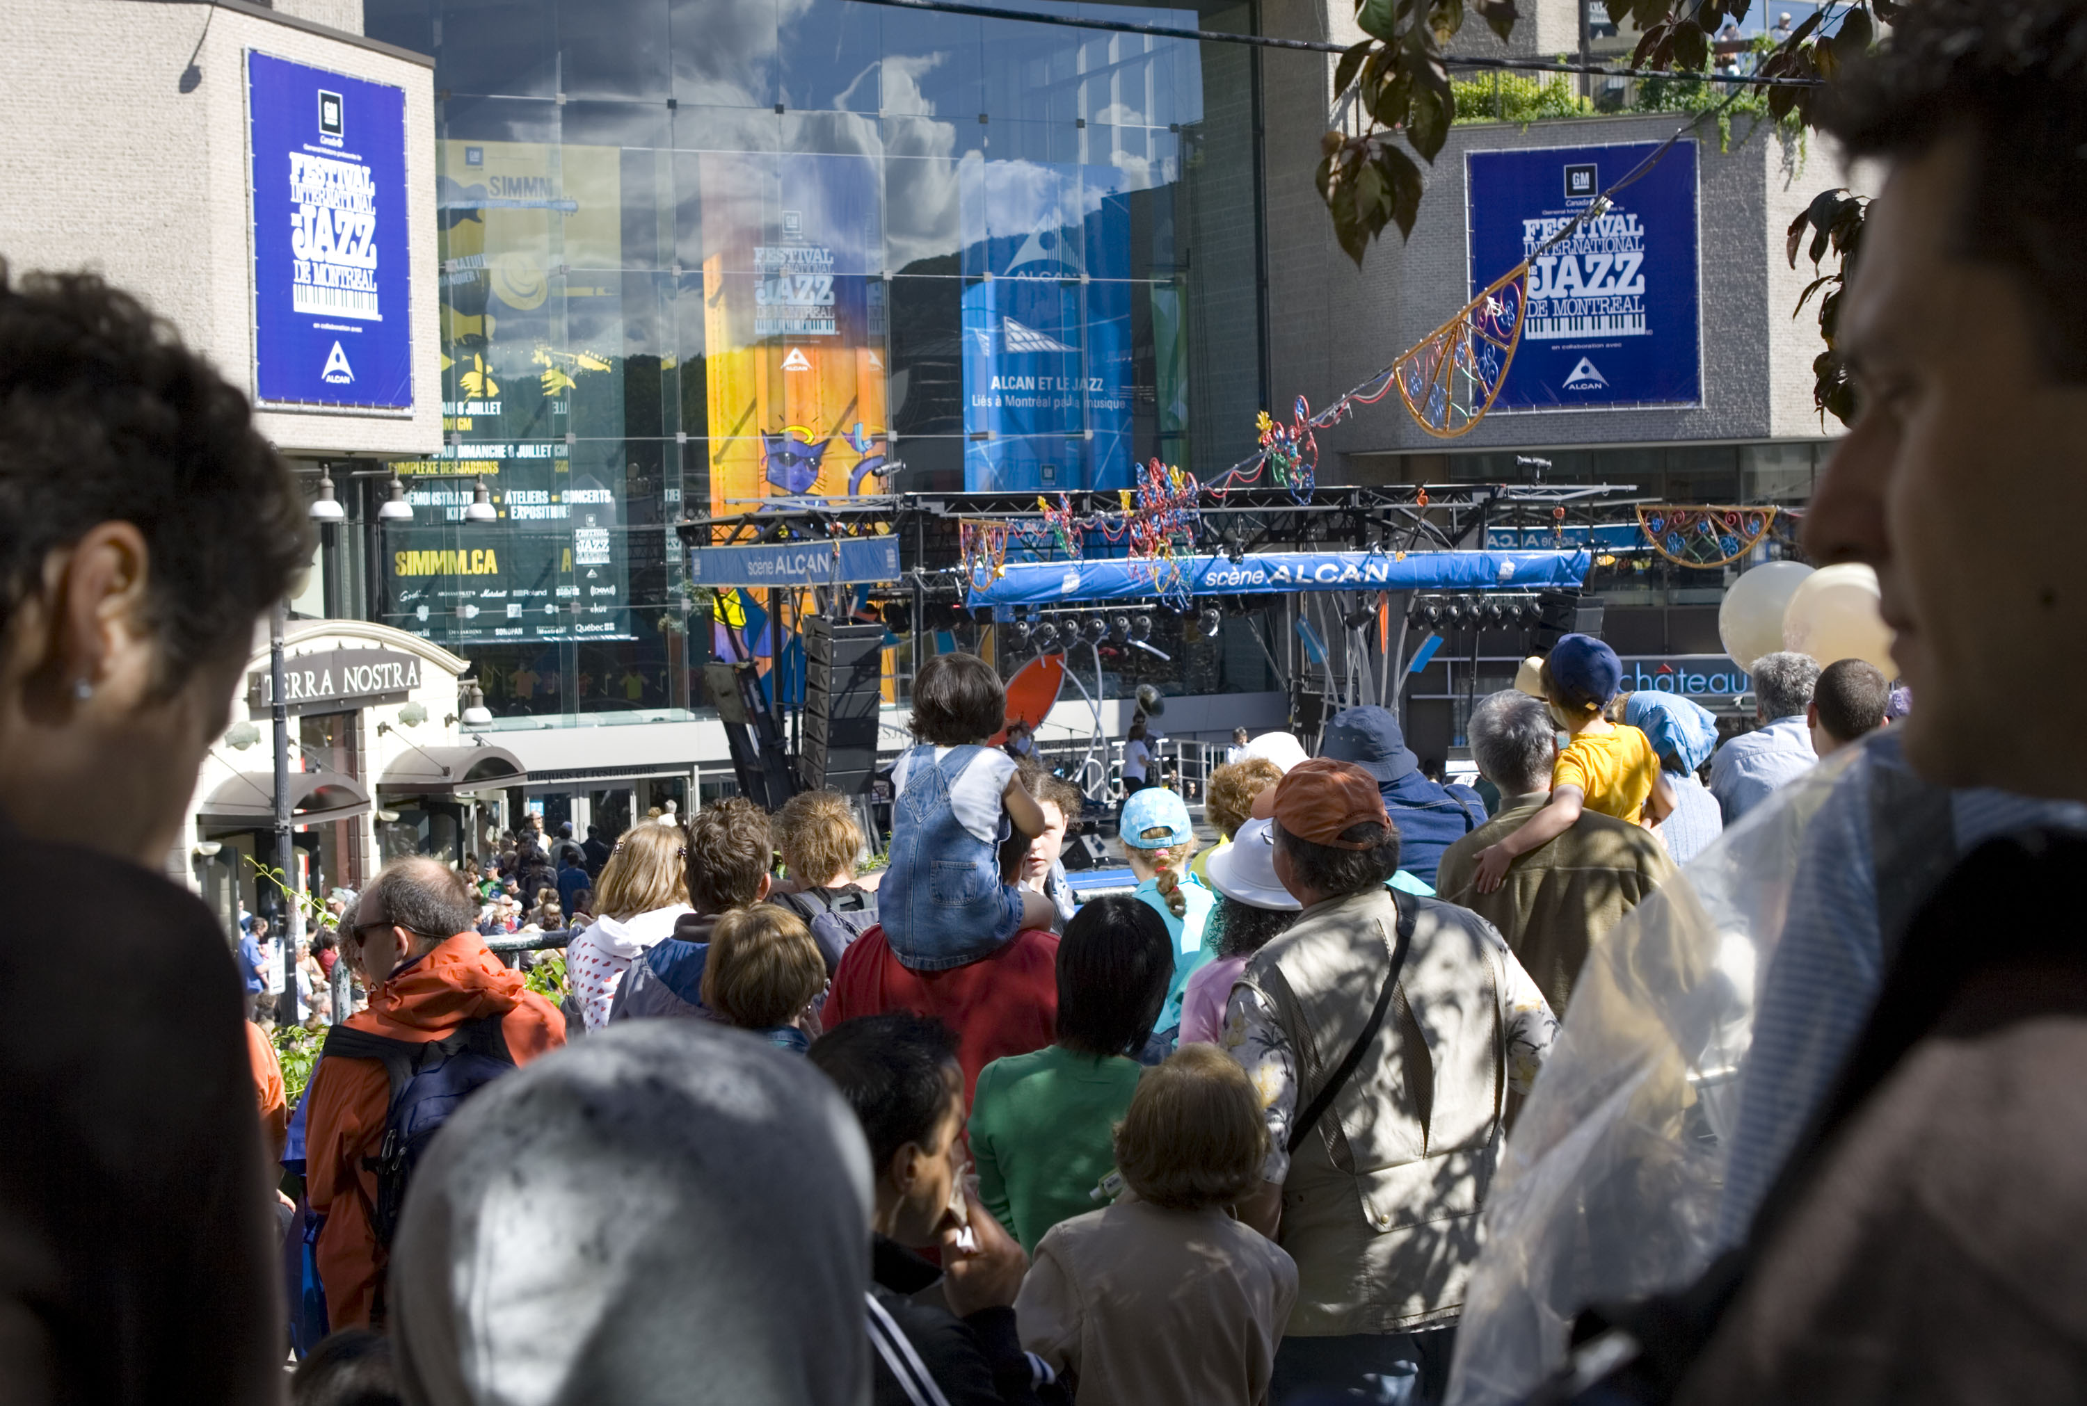
<path id="1" fill-rule="evenodd" d="M 526 989 L 486 951 L 476 932 L 447 939 L 426 957 L 401 968 L 369 997 L 369 1010 L 346 1024 L 390 1039 L 442 1039 L 484 1016 L 503 1016 L 501 1035 L 515 1064 L 528 1064 L 566 1043 L 566 1018 Z M 305 1095 L 305 1195 L 326 1216 L 319 1231 L 319 1281 L 334 1331 L 367 1327 L 384 1250 L 371 1229 L 378 1199 L 376 1172 L 363 1168 L 384 1141 L 390 1081 L 376 1060 L 319 1060 Z"/>

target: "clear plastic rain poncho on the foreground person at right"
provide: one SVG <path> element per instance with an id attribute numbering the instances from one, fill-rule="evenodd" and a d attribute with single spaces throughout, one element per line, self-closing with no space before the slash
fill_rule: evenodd
<path id="1" fill-rule="evenodd" d="M 1524 1400 L 1563 1364 L 1582 1308 L 1686 1285 L 1738 1243 L 1918 901 L 1991 834 L 2083 820 L 1928 786 L 1887 730 L 1624 918 L 1588 953 L 1503 1152 L 1448 1406 Z"/>

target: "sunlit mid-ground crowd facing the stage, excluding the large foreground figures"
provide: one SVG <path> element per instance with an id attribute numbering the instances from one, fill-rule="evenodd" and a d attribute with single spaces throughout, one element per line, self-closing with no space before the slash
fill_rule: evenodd
<path id="1" fill-rule="evenodd" d="M 1764 722 L 1807 720 L 1805 745 L 1885 722 L 1860 661 L 1759 674 Z M 1181 795 L 1133 789 L 1135 887 L 1083 905 L 1058 864 L 1083 797 L 985 745 L 1002 684 L 973 655 L 920 670 L 887 868 L 862 872 L 862 814 L 831 791 L 774 816 L 741 797 L 651 816 L 591 832 L 593 853 L 530 820 L 482 868 L 394 859 L 340 916 L 367 1010 L 330 1037 L 284 1139 L 307 1371 L 342 1333 L 407 1331 L 394 1277 L 440 1268 L 411 1243 L 426 1193 L 407 1185 L 459 1137 L 436 1133 L 465 1095 L 582 1039 L 620 1068 L 634 1026 L 695 1022 L 808 1056 L 862 1124 L 877 1400 L 1309 1402 L 1373 1379 L 1438 1400 L 1488 1168 L 1576 972 L 1676 874 L 1670 847 L 1705 843 L 1670 832 L 1682 793 L 1709 797 L 1697 772 L 1738 749 L 1766 795 L 1761 757 L 1789 747 L 1753 732 L 1709 757 L 1711 718 L 1622 695 L 1588 636 L 1530 678 L 1542 697 L 1492 695 L 1469 722 L 1490 807 L 1428 780 L 1388 709 L 1354 707 L 1319 757 L 1290 734 L 1240 743 L 1208 782 L 1213 845 Z M 553 868 L 538 907 L 561 922 L 538 926 L 561 1005 L 484 945 Z M 434 1308 L 465 1310 L 490 1312 Z"/>

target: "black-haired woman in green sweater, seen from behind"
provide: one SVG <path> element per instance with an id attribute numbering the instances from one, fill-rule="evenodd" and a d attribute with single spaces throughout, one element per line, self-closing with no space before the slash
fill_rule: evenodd
<path id="1" fill-rule="evenodd" d="M 1058 1041 L 993 1060 L 970 1104 L 979 1199 L 1023 1250 L 1096 1210 L 1131 1106 L 1135 1056 L 1167 1003 L 1175 953 L 1167 922 L 1127 893 L 1073 914 L 1058 941 Z"/>

